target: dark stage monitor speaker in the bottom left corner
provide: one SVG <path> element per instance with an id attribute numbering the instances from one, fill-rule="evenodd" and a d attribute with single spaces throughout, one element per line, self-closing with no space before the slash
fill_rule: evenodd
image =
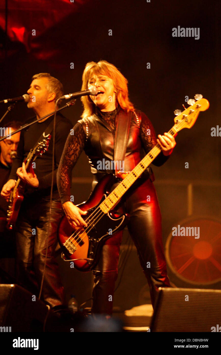
<path id="1" fill-rule="evenodd" d="M 37 297 L 33 301 L 32 296 L 18 285 L 0 284 L 0 326 L 6 327 L 1 331 L 43 331 L 49 308 Z"/>

